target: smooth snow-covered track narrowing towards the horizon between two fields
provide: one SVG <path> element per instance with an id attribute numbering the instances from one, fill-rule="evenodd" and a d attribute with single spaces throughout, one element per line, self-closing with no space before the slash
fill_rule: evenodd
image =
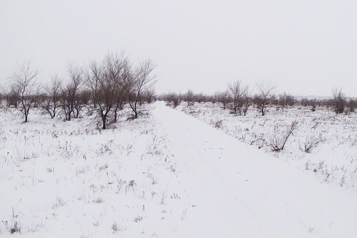
<path id="1" fill-rule="evenodd" d="M 179 237 L 356 237 L 357 196 L 156 102 L 193 208 Z"/>

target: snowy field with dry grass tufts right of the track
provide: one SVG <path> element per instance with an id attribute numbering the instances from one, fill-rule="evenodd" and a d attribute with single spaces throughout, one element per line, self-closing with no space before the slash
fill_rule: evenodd
<path id="1" fill-rule="evenodd" d="M 230 114 L 222 106 L 212 103 L 196 103 L 178 106 L 178 110 L 200 119 L 239 141 L 257 147 L 302 171 L 314 174 L 319 181 L 351 189 L 357 192 L 357 114 L 336 115 L 326 108 L 311 112 L 308 107 L 268 108 L 266 116 L 260 116 L 249 108 L 247 116 Z M 297 121 L 297 129 L 280 152 L 272 152 L 269 142 L 274 129 L 279 135 Z M 315 145 L 306 153 L 305 141 Z"/>

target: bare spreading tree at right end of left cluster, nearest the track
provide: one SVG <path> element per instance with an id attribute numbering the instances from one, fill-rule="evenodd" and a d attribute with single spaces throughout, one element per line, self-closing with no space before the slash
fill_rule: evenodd
<path id="1" fill-rule="evenodd" d="M 147 111 L 146 109 L 140 109 L 138 104 L 141 102 L 143 94 L 150 90 L 156 82 L 155 76 L 152 75 L 155 67 L 156 65 L 152 60 L 144 60 L 134 70 L 126 67 L 127 70 L 123 74 L 124 88 L 129 106 L 134 112 L 134 119 L 144 111 Z"/>

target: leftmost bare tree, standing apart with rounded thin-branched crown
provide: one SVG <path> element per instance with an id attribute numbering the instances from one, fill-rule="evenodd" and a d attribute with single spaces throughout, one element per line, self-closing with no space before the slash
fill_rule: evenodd
<path id="1" fill-rule="evenodd" d="M 18 64 L 19 68 L 10 77 L 10 92 L 16 99 L 17 109 L 24 115 L 28 122 L 30 110 L 34 107 L 35 96 L 39 93 L 39 85 L 36 81 L 38 70 L 30 68 L 30 62 Z"/>

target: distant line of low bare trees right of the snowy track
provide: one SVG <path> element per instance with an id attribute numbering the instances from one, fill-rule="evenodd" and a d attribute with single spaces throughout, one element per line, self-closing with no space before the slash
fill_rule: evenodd
<path id="1" fill-rule="evenodd" d="M 187 90 L 185 93 L 169 92 L 158 96 L 158 99 L 169 102 L 173 107 L 177 107 L 182 101 L 187 102 L 187 106 L 192 106 L 194 102 L 220 103 L 223 109 L 229 109 L 232 114 L 245 116 L 248 108 L 256 108 L 262 116 L 266 113 L 268 105 L 279 108 L 300 105 L 310 107 L 315 111 L 316 107 L 331 108 L 336 114 L 355 112 L 357 100 L 348 98 L 341 88 L 333 88 L 332 95 L 328 99 L 308 99 L 306 97 L 297 99 L 292 94 L 283 92 L 276 94 L 277 85 L 270 82 L 261 81 L 255 84 L 256 93 L 249 89 L 249 85 L 244 85 L 240 80 L 229 84 L 226 90 L 217 91 L 212 95 L 194 93 Z"/>

